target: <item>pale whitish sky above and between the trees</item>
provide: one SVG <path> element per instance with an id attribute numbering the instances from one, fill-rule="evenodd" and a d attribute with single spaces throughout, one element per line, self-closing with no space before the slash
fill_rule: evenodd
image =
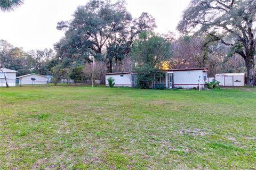
<path id="1" fill-rule="evenodd" d="M 58 21 L 72 19 L 76 7 L 88 0 L 25 0 L 12 12 L 0 11 L 0 39 L 25 50 L 52 48 L 64 36 Z M 190 0 L 126 0 L 133 18 L 148 12 L 156 19 L 156 32 L 175 32 Z"/>

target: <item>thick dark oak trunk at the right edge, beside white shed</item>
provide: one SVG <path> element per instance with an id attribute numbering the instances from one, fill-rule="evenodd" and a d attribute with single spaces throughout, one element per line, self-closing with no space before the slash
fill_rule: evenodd
<path id="1" fill-rule="evenodd" d="M 254 56 L 248 56 L 245 59 L 246 71 L 247 71 L 247 86 L 255 86 L 255 72 L 254 72 Z"/>

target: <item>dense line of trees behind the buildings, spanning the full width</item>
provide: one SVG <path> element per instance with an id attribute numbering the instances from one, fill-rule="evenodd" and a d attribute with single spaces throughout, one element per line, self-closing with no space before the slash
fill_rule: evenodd
<path id="1" fill-rule="evenodd" d="M 65 36 L 54 50 L 24 52 L 1 40 L 1 64 L 18 75 L 52 74 L 56 80 L 102 79 L 106 72 L 139 73 L 142 86 L 164 69 L 209 67 L 215 73 L 247 72 L 255 82 L 256 2 L 191 0 L 174 33 L 154 32 L 155 19 L 148 13 L 132 18 L 125 1 L 91 0 L 78 6 L 71 21 L 58 22 Z M 167 22 L 167 21 L 166 21 Z M 144 84 L 143 84 L 144 83 Z"/>

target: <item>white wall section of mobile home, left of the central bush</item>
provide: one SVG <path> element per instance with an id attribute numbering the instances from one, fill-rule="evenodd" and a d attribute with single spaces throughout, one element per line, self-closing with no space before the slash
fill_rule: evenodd
<path id="1" fill-rule="evenodd" d="M 121 77 L 121 75 L 124 75 Z M 106 75 L 106 86 L 108 85 L 108 78 L 113 77 L 115 79 L 115 87 L 132 87 L 132 75 L 131 74 L 113 74 Z"/>

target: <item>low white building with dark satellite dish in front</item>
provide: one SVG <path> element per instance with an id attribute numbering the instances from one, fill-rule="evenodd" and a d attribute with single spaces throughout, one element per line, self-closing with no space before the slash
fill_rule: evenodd
<path id="1" fill-rule="evenodd" d="M 45 75 L 40 75 L 40 74 L 35 74 L 35 73 L 22 75 L 20 77 L 17 77 L 17 79 L 19 79 L 19 84 L 20 85 L 47 84 L 47 77 Z"/>

